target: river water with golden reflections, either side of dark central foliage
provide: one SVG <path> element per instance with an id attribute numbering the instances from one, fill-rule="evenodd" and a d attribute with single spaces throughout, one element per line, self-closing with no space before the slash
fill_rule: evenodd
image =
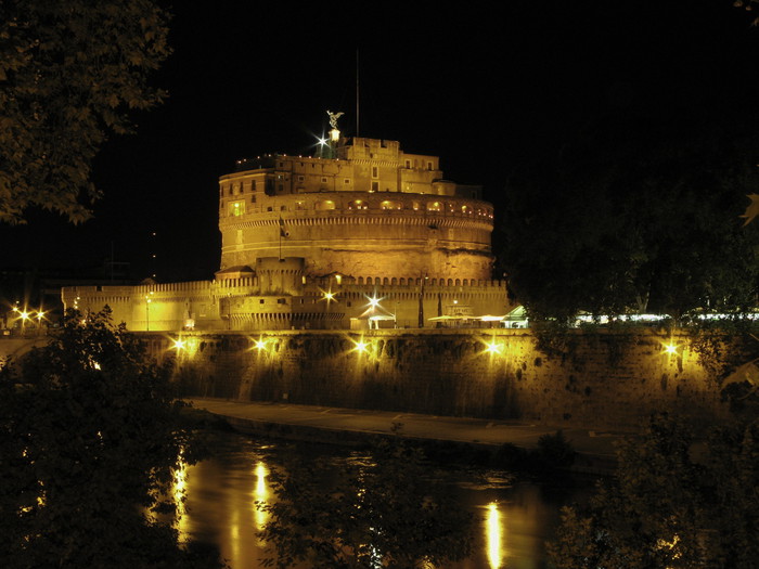
<path id="1" fill-rule="evenodd" d="M 257 533 L 270 514 L 256 502 L 275 502 L 270 475 L 287 453 L 347 451 L 330 447 L 257 441 L 239 434 L 215 443 L 211 458 L 181 473 L 176 494 L 185 500 L 178 527 L 183 540 L 217 546 L 232 569 L 260 567 L 267 544 Z M 338 460 L 338 458 L 335 458 Z M 445 484 L 461 508 L 474 514 L 473 554 L 450 562 L 450 569 L 539 569 L 546 567 L 545 540 L 554 531 L 562 505 L 582 500 L 587 490 L 519 479 L 506 471 L 429 467 L 429 475 Z"/>

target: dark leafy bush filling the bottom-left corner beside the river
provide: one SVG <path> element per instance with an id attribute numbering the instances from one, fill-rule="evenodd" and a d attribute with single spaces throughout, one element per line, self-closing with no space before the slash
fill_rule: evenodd
<path id="1" fill-rule="evenodd" d="M 195 447 L 168 368 L 111 324 L 69 313 L 60 335 L 0 373 L 2 567 L 215 567 L 150 512 L 171 506 Z"/>

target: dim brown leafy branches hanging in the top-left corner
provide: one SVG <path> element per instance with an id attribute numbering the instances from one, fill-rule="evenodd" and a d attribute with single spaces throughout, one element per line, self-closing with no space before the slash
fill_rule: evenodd
<path id="1" fill-rule="evenodd" d="M 166 22 L 152 0 L 0 3 L 0 221 L 33 206 L 90 216 L 107 133 L 164 98 L 147 79 L 169 53 Z"/>

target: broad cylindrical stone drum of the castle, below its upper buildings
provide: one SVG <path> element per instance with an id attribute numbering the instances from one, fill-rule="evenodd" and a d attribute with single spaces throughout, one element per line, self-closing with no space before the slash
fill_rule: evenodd
<path id="1" fill-rule="evenodd" d="M 492 274 L 492 206 L 478 199 L 337 191 L 261 196 L 243 215 L 221 216 L 219 229 L 221 269 L 282 256 L 305 258 L 309 276 L 394 275 L 399 267 L 430 277 Z"/>

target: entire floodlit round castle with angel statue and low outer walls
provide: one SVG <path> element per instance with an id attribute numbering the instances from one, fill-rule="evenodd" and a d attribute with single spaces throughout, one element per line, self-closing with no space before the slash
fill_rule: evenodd
<path id="1" fill-rule="evenodd" d="M 214 281 L 76 286 L 65 308 L 113 310 L 132 331 L 497 325 L 492 205 L 443 179 L 437 156 L 343 138 L 317 156 L 239 160 L 219 179 Z"/>

